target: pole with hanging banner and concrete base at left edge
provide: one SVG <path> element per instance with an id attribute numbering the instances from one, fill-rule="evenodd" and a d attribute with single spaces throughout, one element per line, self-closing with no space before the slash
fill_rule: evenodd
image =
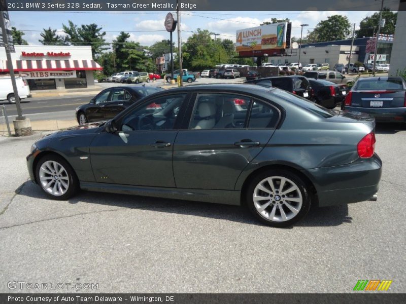
<path id="1" fill-rule="evenodd" d="M 17 85 L 16 85 L 16 79 L 15 79 L 15 74 L 14 74 L 14 68 L 13 68 L 13 61 L 11 59 L 11 54 L 10 51 L 14 51 L 14 45 L 13 45 L 13 38 L 11 34 L 11 25 L 10 25 L 10 20 L 9 20 L 9 14 L 7 11 L 1 11 L 0 12 L 0 26 L 2 27 L 2 33 L 3 33 L 3 42 L 0 42 L 4 45 L 6 49 L 6 55 L 7 55 L 7 63 L 8 63 L 8 68 L 10 71 L 10 78 L 11 78 L 11 85 L 13 87 L 13 92 L 14 92 L 14 98 L 15 98 L 15 103 L 17 107 L 17 114 L 18 116 L 16 119 L 13 121 L 14 124 L 14 131 L 17 136 L 26 136 L 26 135 L 31 135 L 32 129 L 31 129 L 31 124 L 29 119 L 25 119 L 24 116 L 22 116 L 22 110 L 21 110 L 21 105 L 20 105 L 20 97 L 18 96 L 18 90 L 17 90 Z"/>

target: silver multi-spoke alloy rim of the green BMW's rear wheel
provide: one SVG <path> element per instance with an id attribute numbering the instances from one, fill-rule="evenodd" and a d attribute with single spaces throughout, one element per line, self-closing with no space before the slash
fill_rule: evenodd
<path id="1" fill-rule="evenodd" d="M 285 222 L 300 212 L 303 198 L 295 182 L 283 176 L 270 176 L 254 188 L 253 202 L 266 220 Z"/>

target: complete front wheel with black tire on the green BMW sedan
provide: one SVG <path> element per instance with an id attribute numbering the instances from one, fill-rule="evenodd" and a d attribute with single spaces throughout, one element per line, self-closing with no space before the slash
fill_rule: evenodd
<path id="1" fill-rule="evenodd" d="M 60 174 L 55 174 L 55 172 Z M 64 201 L 74 196 L 79 190 L 79 181 L 75 171 L 58 155 L 51 154 L 41 158 L 35 168 L 35 174 L 42 191 L 51 199 Z"/>

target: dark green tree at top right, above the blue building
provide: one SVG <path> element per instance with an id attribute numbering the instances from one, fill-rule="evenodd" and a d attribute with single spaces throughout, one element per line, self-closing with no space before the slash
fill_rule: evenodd
<path id="1" fill-rule="evenodd" d="M 379 12 L 371 16 L 365 17 L 359 23 L 359 29 L 355 31 L 358 38 L 371 37 L 378 31 Z M 382 11 L 382 19 L 385 19 L 385 26 L 381 27 L 381 34 L 394 34 L 396 26 L 397 12 L 391 12 L 384 8 Z"/>

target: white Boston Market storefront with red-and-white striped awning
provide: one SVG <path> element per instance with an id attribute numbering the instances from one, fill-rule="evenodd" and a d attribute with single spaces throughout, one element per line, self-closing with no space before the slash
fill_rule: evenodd
<path id="1" fill-rule="evenodd" d="M 88 88 L 93 71 L 103 68 L 92 58 L 90 46 L 15 46 L 11 53 L 16 75 L 24 77 L 32 91 Z M 8 74 L 5 49 L 0 49 L 0 74 Z"/>

